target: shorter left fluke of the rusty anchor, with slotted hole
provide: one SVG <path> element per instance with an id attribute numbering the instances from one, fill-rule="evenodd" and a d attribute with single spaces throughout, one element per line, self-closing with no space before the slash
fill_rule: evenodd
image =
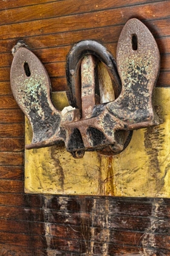
<path id="1" fill-rule="evenodd" d="M 32 144 L 26 148 L 50 146 L 56 139 L 61 114 L 50 101 L 50 80 L 33 52 L 19 48 L 10 72 L 13 96 L 33 130 Z M 61 138 L 58 138 L 61 139 Z"/>

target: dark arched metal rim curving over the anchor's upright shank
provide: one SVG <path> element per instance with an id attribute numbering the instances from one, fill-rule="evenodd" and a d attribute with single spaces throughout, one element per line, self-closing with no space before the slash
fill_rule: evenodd
<path id="1" fill-rule="evenodd" d="M 67 55 L 67 84 L 72 92 L 72 105 L 81 109 L 81 93 L 80 93 L 80 63 L 84 55 L 95 55 L 101 62 L 104 63 L 112 80 L 115 98 L 121 91 L 121 82 L 117 73 L 117 65 L 114 57 L 100 43 L 93 40 L 84 40 L 75 44 Z"/>

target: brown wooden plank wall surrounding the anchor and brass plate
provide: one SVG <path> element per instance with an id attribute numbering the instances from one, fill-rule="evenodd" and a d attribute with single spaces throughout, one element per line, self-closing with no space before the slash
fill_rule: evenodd
<path id="1" fill-rule="evenodd" d="M 24 115 L 10 90 L 11 50 L 24 40 L 53 91 L 67 90 L 72 44 L 100 40 L 115 55 L 129 18 L 149 27 L 161 52 L 158 87 L 170 85 L 170 1 L 1 0 L 0 255 L 170 255 L 170 200 L 24 194 Z"/>

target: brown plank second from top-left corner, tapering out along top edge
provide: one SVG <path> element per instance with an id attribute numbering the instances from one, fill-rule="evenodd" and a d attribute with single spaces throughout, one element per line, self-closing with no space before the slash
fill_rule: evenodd
<path id="1" fill-rule="evenodd" d="M 0 24 L 18 23 L 32 20 L 48 19 L 58 16 L 73 15 L 73 13 L 86 13 L 86 12 L 97 12 L 103 9 L 115 9 L 116 7 L 123 7 L 124 5 L 144 4 L 147 2 L 158 2 L 148 1 L 148 0 L 138 0 L 138 1 L 107 1 L 103 0 L 99 2 L 98 0 L 86 0 L 81 2 L 80 0 L 67 0 L 67 4 L 63 4 L 63 1 L 58 2 L 47 2 L 42 6 L 41 2 L 39 5 L 30 5 L 28 7 L 15 8 L 10 10 L 7 16 L 6 10 L 1 10 L 0 12 Z M 68 8 L 69 5 L 69 8 Z M 43 7 L 43 9 L 42 9 Z M 141 7 L 142 8 L 142 7 Z"/>

